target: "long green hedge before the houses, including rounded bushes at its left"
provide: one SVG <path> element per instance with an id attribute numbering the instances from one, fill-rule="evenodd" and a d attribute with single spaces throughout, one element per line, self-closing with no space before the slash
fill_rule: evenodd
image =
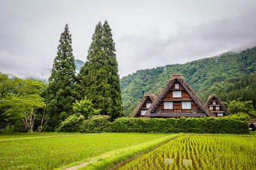
<path id="1" fill-rule="evenodd" d="M 152 133 L 229 133 L 249 134 L 248 117 L 180 117 L 139 119 L 121 117 L 110 123 L 109 116 L 95 115 L 84 120 L 72 115 L 61 123 L 57 132 L 152 132 Z"/>

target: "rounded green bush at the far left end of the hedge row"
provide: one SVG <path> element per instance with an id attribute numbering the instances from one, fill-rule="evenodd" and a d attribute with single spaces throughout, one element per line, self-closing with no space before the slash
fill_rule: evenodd
<path id="1" fill-rule="evenodd" d="M 79 129 L 81 129 L 80 126 L 83 120 L 83 115 L 78 116 L 73 114 L 60 123 L 60 126 L 58 129 L 56 129 L 56 132 L 78 132 Z"/>

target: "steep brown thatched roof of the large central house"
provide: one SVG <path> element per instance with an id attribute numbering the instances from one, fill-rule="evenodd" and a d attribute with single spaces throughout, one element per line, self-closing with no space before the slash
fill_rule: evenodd
<path id="1" fill-rule="evenodd" d="M 155 99 L 151 107 L 148 108 L 148 111 L 146 112 L 145 116 L 153 116 L 153 114 L 156 112 L 157 106 L 160 105 L 160 102 L 163 101 L 164 97 L 169 92 L 169 89 L 173 86 L 176 80 L 178 81 L 178 83 L 181 84 L 184 90 L 186 90 L 188 96 L 190 96 L 190 98 L 196 103 L 196 105 L 198 106 L 198 108 L 200 108 L 201 111 L 206 113 L 206 115 L 209 117 L 216 117 L 215 114 L 212 114 L 212 111 L 210 111 L 209 108 L 204 104 L 204 102 L 197 96 L 197 94 L 194 93 L 191 87 L 188 86 L 182 74 L 171 74 L 169 82 L 166 83 L 166 86 L 157 96 L 157 99 Z"/>

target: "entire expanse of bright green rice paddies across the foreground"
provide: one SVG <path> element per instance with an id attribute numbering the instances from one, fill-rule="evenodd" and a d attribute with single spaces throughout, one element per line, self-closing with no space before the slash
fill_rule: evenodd
<path id="1" fill-rule="evenodd" d="M 161 143 L 160 147 L 136 156 Z M 84 162 L 90 162 L 90 165 L 78 168 L 105 169 L 132 156 L 136 157 L 114 169 L 256 169 L 256 136 L 145 133 L 0 135 L 0 169 L 62 169 Z M 91 162 L 94 158 L 96 160 Z"/>

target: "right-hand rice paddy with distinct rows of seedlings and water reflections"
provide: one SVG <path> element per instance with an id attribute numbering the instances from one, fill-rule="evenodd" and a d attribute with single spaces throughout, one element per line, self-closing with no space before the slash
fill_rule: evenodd
<path id="1" fill-rule="evenodd" d="M 256 169 L 256 137 L 184 135 L 114 169 Z"/>

